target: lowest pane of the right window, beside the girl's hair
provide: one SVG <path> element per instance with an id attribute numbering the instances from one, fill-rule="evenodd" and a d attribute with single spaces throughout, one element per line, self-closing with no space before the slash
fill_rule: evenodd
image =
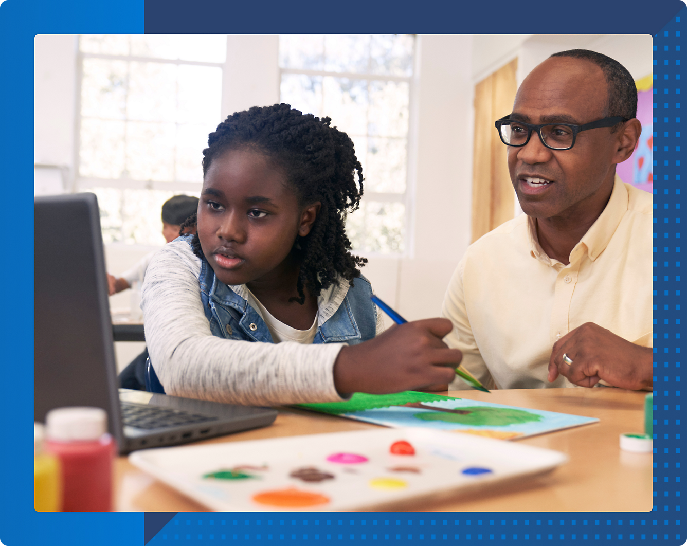
<path id="1" fill-rule="evenodd" d="M 346 234 L 354 251 L 403 252 L 405 205 L 371 201 L 346 218 Z"/>

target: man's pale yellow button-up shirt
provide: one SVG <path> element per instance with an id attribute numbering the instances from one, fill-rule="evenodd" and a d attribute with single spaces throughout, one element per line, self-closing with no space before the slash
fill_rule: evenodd
<path id="1" fill-rule="evenodd" d="M 513 218 L 467 249 L 444 297 L 444 338 L 485 387 L 573 386 L 546 380 L 553 344 L 594 322 L 652 344 L 651 194 L 616 177 L 611 198 L 564 265 L 546 255 L 534 220 Z M 451 389 L 464 389 L 456 379 Z"/>

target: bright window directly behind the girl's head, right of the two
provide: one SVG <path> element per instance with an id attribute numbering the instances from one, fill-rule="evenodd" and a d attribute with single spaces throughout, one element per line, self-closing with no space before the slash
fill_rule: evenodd
<path id="1" fill-rule="evenodd" d="M 279 38 L 282 102 L 331 117 L 362 163 L 363 200 L 346 220 L 356 251 L 405 251 L 414 44 L 414 36 Z"/>

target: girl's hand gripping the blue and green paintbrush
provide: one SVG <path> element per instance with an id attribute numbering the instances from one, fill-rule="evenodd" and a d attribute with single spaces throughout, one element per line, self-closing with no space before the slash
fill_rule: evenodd
<path id="1" fill-rule="evenodd" d="M 463 356 L 441 341 L 451 328 L 449 319 L 407 322 L 344 347 L 334 364 L 337 391 L 388 394 L 451 383 Z"/>

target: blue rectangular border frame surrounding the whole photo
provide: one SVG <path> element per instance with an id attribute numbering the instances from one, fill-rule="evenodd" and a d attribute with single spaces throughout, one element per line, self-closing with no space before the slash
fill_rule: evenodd
<path id="1" fill-rule="evenodd" d="M 144 30 L 153 33 L 541 34 L 555 31 L 561 34 L 654 34 L 656 67 L 653 123 L 654 222 L 657 228 L 653 263 L 656 484 L 652 512 L 190 513 L 174 516 L 150 543 L 226 540 L 261 544 L 283 540 L 291 544 L 310 544 L 330 540 L 337 543 L 390 540 L 395 544 L 409 544 L 424 540 L 497 540 L 519 544 L 540 538 L 564 544 L 585 539 L 604 540 L 607 544 L 643 539 L 667 544 L 686 543 L 687 532 L 681 534 L 679 523 L 678 480 L 682 472 L 677 466 L 682 447 L 679 433 L 680 249 L 679 240 L 673 239 L 679 239 L 682 173 L 680 82 L 677 79 L 681 52 L 676 48 L 682 45 L 680 32 L 687 8 L 680 0 L 660 0 L 652 3 L 651 8 L 647 5 L 640 0 L 622 4 L 609 0 L 579 0 L 574 3 L 574 9 L 570 9 L 570 4 L 560 6 L 543 0 L 527 4 L 498 0 L 466 7 L 432 0 L 423 2 L 422 12 L 419 12 L 416 6 L 369 0 L 328 7 L 310 0 L 301 1 L 297 7 L 292 3 L 288 8 L 284 2 L 233 0 L 195 3 L 181 0 L 148 0 L 145 3 L 143 0 L 117 3 L 4 0 L 0 3 L 0 172 L 4 181 L 12 181 L 8 184 L 10 195 L 16 196 L 6 201 L 12 206 L 5 212 L 8 251 L 3 255 L 5 289 L 0 295 L 5 310 L 0 318 L 3 384 L 9 387 L 0 400 L 0 422 L 6 439 L 0 450 L 5 469 L 1 481 L 0 543 L 8 546 L 45 543 L 140 545 L 143 541 L 142 513 L 37 514 L 32 509 L 29 483 L 32 396 L 27 394 L 32 391 L 33 298 L 30 286 L 24 285 L 31 284 L 33 268 L 34 35 L 137 34 Z M 495 19 L 494 14 L 499 14 L 499 19 Z M 25 262 L 28 263 L 23 268 Z M 16 271 L 21 273 L 17 275 Z M 19 282 L 22 286 L 17 286 Z M 10 436 L 12 440 L 7 440 Z M 181 528 L 184 531 L 178 532 Z M 175 539 L 175 535 L 179 535 L 179 539 Z"/>

